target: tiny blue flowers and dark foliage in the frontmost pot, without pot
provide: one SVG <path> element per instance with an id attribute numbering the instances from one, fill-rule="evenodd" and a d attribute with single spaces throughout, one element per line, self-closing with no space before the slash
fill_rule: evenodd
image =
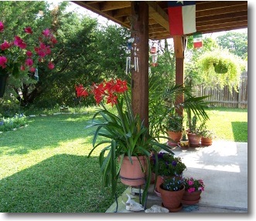
<path id="1" fill-rule="evenodd" d="M 179 191 L 180 189 L 183 189 L 183 176 L 182 175 L 176 175 L 172 177 L 166 177 L 162 182 L 162 189 L 165 189 L 167 191 Z"/>

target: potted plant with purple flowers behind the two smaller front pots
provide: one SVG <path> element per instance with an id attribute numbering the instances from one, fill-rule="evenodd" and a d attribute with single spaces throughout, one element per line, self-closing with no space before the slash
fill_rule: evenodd
<path id="1" fill-rule="evenodd" d="M 156 177 L 154 191 L 157 196 L 160 196 L 159 186 L 166 177 L 182 175 L 186 169 L 186 165 L 180 157 L 173 156 L 167 152 L 159 152 L 157 155 L 152 155 L 150 166 Z"/>

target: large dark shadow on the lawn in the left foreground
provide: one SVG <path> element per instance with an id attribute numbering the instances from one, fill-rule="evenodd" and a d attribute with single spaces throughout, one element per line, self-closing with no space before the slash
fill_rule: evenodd
<path id="1" fill-rule="evenodd" d="M 61 154 L 0 180 L 1 213 L 104 213 L 112 203 L 97 157 Z"/>

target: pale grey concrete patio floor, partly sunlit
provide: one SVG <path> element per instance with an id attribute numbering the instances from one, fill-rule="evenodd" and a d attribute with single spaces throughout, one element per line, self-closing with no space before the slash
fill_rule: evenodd
<path id="1" fill-rule="evenodd" d="M 203 179 L 205 183 L 200 202 L 195 206 L 183 205 L 179 213 L 247 213 L 247 142 L 216 141 L 212 146 L 172 150 L 187 166 L 184 176 Z M 118 198 L 118 213 L 131 213 L 122 203 L 128 199 L 126 193 L 131 193 L 131 187 Z M 138 195 L 134 197 L 138 202 Z M 106 213 L 114 213 L 116 205 L 114 202 Z M 152 205 L 162 205 L 153 185 L 148 191 L 146 209 Z"/>

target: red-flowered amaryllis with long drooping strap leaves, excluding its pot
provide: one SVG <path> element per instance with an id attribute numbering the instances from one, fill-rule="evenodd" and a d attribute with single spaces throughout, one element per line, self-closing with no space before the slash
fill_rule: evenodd
<path id="1" fill-rule="evenodd" d="M 111 185 L 112 194 L 116 192 L 118 176 L 121 163 L 125 156 L 130 161 L 131 156 L 145 156 L 148 162 L 148 179 L 146 179 L 145 189 L 142 196 L 142 202 L 145 202 L 145 196 L 151 179 L 150 156 L 151 152 L 156 152 L 155 146 L 171 152 L 166 144 L 158 142 L 158 139 L 149 135 L 148 128 L 143 124 L 138 115 L 134 115 L 131 109 L 130 95 L 128 93 L 128 84 L 121 79 L 111 79 L 99 84 L 93 83 L 89 88 L 83 85 L 76 86 L 77 96 L 87 97 L 94 95 L 94 99 L 101 109 L 94 114 L 93 121 L 87 128 L 95 127 L 93 139 L 94 150 L 99 147 L 99 163 L 102 173 L 102 187 Z M 117 114 L 107 109 L 106 102 L 117 109 Z M 101 116 L 101 118 L 97 118 Z M 100 139 L 101 138 L 101 139 Z M 103 138 L 103 139 L 102 139 Z M 99 141 L 97 141 L 99 139 Z"/>

